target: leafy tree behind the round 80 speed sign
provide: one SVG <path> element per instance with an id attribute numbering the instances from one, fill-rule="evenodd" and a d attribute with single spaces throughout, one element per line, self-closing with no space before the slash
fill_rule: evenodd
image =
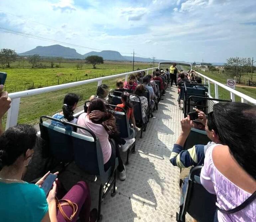
<path id="1" fill-rule="evenodd" d="M 242 75 L 250 71 L 251 58 L 230 57 L 224 66 L 224 73 L 229 77 L 236 77 L 241 82 Z"/>

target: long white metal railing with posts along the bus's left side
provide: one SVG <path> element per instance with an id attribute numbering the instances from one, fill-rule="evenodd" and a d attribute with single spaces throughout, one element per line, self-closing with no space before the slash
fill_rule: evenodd
<path id="1" fill-rule="evenodd" d="M 102 80 L 118 78 L 118 77 L 123 77 L 123 76 L 125 76 L 125 81 L 127 81 L 128 76 L 132 73 L 145 71 L 148 74 L 149 70 L 154 70 L 156 68 L 158 68 L 158 67 L 136 70 L 136 71 L 132 71 L 132 72 L 125 72 L 125 73 L 121 73 L 121 74 L 109 75 L 109 76 L 104 76 L 104 77 L 99 77 L 99 78 L 87 79 L 87 80 L 82 80 L 82 81 L 78 81 L 78 82 L 70 82 L 70 83 L 65 83 L 65 84 L 61 84 L 61 85 L 48 86 L 48 87 L 43 87 L 43 88 L 39 88 L 39 89 L 31 89 L 31 90 L 10 93 L 9 96 L 12 99 L 12 102 L 11 102 L 11 107 L 8 110 L 8 114 L 7 114 L 6 129 L 17 125 L 19 108 L 20 108 L 20 100 L 23 97 L 37 95 L 37 94 L 41 94 L 41 93 L 45 93 L 45 92 L 52 92 L 52 91 L 56 91 L 59 89 L 66 89 L 66 88 L 84 85 L 84 84 L 88 84 L 88 83 L 92 83 L 92 82 L 98 82 L 98 85 L 100 85 L 102 83 Z"/>

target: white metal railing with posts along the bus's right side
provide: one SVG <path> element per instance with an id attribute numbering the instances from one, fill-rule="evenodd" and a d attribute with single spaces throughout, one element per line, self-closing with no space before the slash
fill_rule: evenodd
<path id="1" fill-rule="evenodd" d="M 218 99 L 219 98 L 219 91 L 218 91 L 218 86 L 220 86 L 221 88 L 227 90 L 230 92 L 230 99 L 234 102 L 235 101 L 235 95 L 239 96 L 241 98 L 241 102 L 244 103 L 252 103 L 252 104 L 256 104 L 256 99 L 253 99 L 250 96 L 247 96 L 241 92 L 238 92 L 214 79 L 211 79 L 203 74 L 201 74 L 200 72 L 196 72 L 196 74 L 198 74 L 199 76 L 201 76 L 204 80 L 204 84 L 208 84 L 208 95 L 211 97 L 211 91 L 210 91 L 210 83 L 214 84 L 214 91 L 215 91 L 215 98 Z M 207 82 L 206 82 L 207 80 Z"/>

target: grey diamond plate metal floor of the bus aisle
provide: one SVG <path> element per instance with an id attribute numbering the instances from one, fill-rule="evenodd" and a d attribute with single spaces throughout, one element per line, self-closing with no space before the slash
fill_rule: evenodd
<path id="1" fill-rule="evenodd" d="M 117 179 L 114 197 L 107 194 L 102 203 L 103 222 L 176 221 L 179 210 L 179 168 L 169 157 L 180 131 L 182 111 L 177 102 L 176 87 L 168 87 L 158 111 L 150 119 L 143 138 L 136 139 L 136 152 L 130 154 L 125 181 Z M 125 155 L 123 154 L 125 162 Z M 66 188 L 84 179 L 89 183 L 92 207 L 97 208 L 99 184 L 95 177 L 86 176 L 74 164 L 60 175 Z M 187 220 L 192 221 L 187 214 Z"/>

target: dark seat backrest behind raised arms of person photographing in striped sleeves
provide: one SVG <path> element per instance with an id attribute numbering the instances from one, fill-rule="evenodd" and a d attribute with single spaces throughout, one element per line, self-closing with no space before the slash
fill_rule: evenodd
<path id="1" fill-rule="evenodd" d="M 196 144 L 206 145 L 210 141 L 205 131 L 192 128 L 183 148 L 188 150 Z"/>

